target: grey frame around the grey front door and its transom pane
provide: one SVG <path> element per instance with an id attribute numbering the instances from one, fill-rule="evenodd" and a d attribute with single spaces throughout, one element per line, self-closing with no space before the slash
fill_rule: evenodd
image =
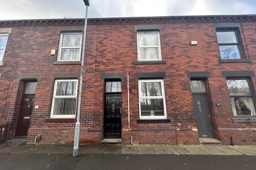
<path id="1" fill-rule="evenodd" d="M 213 138 L 215 139 L 215 133 L 214 133 L 214 124 L 213 124 L 213 121 L 212 121 L 212 112 L 211 112 L 211 105 L 210 105 L 210 102 L 209 102 L 209 94 L 207 92 L 207 89 L 209 89 L 207 87 L 207 83 L 206 83 L 206 80 L 207 79 L 190 79 L 190 81 L 204 81 L 204 86 L 205 86 L 205 92 L 192 92 L 192 89 L 191 89 L 191 96 L 192 96 L 192 103 L 193 103 L 193 109 L 194 109 L 194 114 L 195 114 L 195 118 L 196 118 L 196 112 L 195 112 L 195 104 L 194 104 L 194 95 L 205 95 L 206 96 L 206 102 L 208 104 L 208 107 L 209 107 L 209 114 L 211 116 L 210 118 L 210 125 L 212 127 L 212 134 L 213 134 Z M 191 83 L 191 82 L 190 82 Z M 196 124 L 197 124 L 197 121 L 196 121 Z M 198 130 L 198 136 L 199 136 L 199 130 Z M 199 138 L 204 138 L 204 137 L 199 137 Z"/>

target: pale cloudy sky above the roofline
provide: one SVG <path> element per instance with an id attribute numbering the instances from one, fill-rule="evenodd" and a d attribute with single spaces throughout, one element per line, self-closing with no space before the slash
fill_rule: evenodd
<path id="1" fill-rule="evenodd" d="M 0 0 L 0 20 L 84 18 L 82 0 Z M 255 0 L 90 0 L 89 18 L 255 14 Z"/>

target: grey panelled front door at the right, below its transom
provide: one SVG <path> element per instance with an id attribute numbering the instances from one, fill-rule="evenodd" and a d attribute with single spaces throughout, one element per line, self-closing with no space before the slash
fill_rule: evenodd
<path id="1" fill-rule="evenodd" d="M 193 95 L 199 138 L 214 138 L 207 95 Z"/>

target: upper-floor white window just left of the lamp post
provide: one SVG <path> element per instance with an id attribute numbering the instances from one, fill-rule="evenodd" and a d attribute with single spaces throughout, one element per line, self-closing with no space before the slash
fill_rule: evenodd
<path id="1" fill-rule="evenodd" d="M 61 33 L 58 61 L 80 61 L 82 32 Z"/>

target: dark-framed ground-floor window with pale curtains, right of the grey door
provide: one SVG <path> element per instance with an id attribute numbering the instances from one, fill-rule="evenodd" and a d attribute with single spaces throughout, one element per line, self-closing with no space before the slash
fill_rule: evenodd
<path id="1" fill-rule="evenodd" d="M 256 115 L 248 79 L 228 79 L 227 86 L 234 116 Z"/>

